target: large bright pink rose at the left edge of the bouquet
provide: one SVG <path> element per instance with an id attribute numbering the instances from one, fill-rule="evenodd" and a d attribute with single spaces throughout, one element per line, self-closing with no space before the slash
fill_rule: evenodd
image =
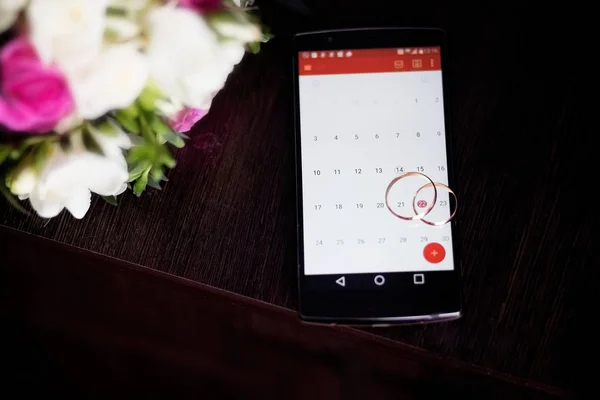
<path id="1" fill-rule="evenodd" d="M 43 65 L 26 39 L 13 39 L 0 50 L 1 125 L 12 131 L 45 133 L 73 108 L 64 76 Z"/>

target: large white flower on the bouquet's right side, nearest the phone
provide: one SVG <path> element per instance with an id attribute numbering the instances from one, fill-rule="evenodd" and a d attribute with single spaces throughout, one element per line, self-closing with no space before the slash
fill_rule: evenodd
<path id="1" fill-rule="evenodd" d="M 244 45 L 219 42 L 202 16 L 170 5 L 151 11 L 148 27 L 152 80 L 167 96 L 186 106 L 208 109 L 214 94 L 242 59 Z"/>

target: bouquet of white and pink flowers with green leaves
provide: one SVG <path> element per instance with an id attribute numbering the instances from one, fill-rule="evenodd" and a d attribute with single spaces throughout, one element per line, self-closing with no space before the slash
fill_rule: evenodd
<path id="1" fill-rule="evenodd" d="M 241 0 L 0 0 L 0 191 L 44 218 L 159 188 L 247 50 Z M 17 200 L 19 199 L 19 200 Z"/>

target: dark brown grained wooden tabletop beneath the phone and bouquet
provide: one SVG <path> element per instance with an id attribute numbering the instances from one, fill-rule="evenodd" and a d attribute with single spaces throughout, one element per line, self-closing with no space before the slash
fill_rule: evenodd
<path id="1" fill-rule="evenodd" d="M 294 309 L 290 35 L 439 26 L 450 42 L 465 315 L 373 332 L 576 392 L 592 376 L 579 360 L 594 342 L 586 322 L 598 283 L 593 207 L 581 204 L 592 199 L 584 118 L 595 73 L 581 10 L 398 3 L 315 1 L 303 16 L 263 1 L 276 39 L 230 76 L 163 191 L 127 194 L 116 208 L 95 198 L 82 221 L 26 218 L 2 203 L 0 223 Z"/>

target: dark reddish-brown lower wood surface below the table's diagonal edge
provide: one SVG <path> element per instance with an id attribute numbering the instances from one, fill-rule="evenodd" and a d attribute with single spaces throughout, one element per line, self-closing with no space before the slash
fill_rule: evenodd
<path id="1" fill-rule="evenodd" d="M 3 392 L 61 398 L 557 399 L 569 394 L 0 227 Z M 24 242 L 37 251 L 21 252 Z M 64 262 L 69 260 L 70 262 Z M 43 265 L 43 268 L 39 268 Z"/>

